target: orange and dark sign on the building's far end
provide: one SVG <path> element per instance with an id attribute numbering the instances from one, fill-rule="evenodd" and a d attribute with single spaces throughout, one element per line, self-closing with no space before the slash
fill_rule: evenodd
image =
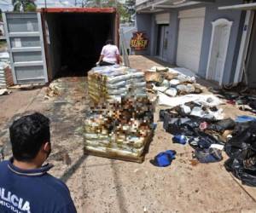
<path id="1" fill-rule="evenodd" d="M 148 47 L 149 40 L 144 32 L 133 32 L 133 37 L 131 37 L 130 46 L 131 49 L 144 50 Z"/>

